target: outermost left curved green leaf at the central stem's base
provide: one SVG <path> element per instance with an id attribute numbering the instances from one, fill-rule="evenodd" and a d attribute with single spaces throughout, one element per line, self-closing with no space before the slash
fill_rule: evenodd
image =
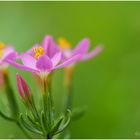
<path id="1" fill-rule="evenodd" d="M 36 134 L 39 134 L 39 135 L 43 135 L 43 133 L 41 131 L 39 131 L 38 129 L 30 126 L 24 119 L 23 119 L 23 116 L 22 114 L 20 114 L 20 123 L 22 126 L 24 126 L 26 129 L 28 129 L 29 131 L 33 132 L 33 133 L 36 133 Z"/>

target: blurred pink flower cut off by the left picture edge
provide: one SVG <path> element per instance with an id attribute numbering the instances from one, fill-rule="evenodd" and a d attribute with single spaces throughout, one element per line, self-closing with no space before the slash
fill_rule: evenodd
<path id="1" fill-rule="evenodd" d="M 17 52 L 12 46 L 5 46 L 0 42 L 0 69 L 7 67 L 6 59 L 14 60 L 17 57 Z"/>

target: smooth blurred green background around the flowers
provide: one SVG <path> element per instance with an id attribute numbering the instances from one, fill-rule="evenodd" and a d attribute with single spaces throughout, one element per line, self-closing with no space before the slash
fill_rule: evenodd
<path id="1" fill-rule="evenodd" d="M 87 106 L 71 124 L 72 138 L 140 138 L 140 2 L 0 2 L 0 40 L 19 52 L 46 34 L 66 37 L 73 46 L 84 37 L 91 49 L 104 44 L 95 59 L 74 73 L 74 106 Z M 15 73 L 36 91 L 31 74 L 9 68 L 19 104 Z M 57 108 L 62 105 L 63 70 L 54 77 Z M 2 100 L 2 99 L 1 99 Z M 0 138 L 26 138 L 0 118 Z"/>

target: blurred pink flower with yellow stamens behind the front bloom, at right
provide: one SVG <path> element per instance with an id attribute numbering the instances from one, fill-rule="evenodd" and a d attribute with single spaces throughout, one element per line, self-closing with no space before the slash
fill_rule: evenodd
<path id="1" fill-rule="evenodd" d="M 94 48 L 91 52 L 88 52 L 89 46 L 90 41 L 87 38 L 81 40 L 74 49 L 71 48 L 70 43 L 66 39 L 64 38 L 59 39 L 59 47 L 63 52 L 63 60 L 79 53 L 81 54 L 81 58 L 79 59 L 79 61 L 84 61 L 95 57 L 103 49 L 103 46 L 99 45 L 96 48 Z"/>

